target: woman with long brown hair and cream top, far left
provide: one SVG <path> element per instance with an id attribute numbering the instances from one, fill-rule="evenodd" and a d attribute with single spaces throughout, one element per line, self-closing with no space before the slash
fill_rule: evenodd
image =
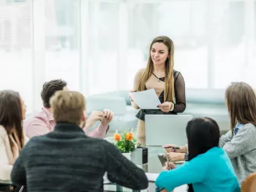
<path id="1" fill-rule="evenodd" d="M 23 133 L 26 105 L 15 91 L 0 91 L 0 180 L 10 180 L 12 165 L 27 142 Z"/>

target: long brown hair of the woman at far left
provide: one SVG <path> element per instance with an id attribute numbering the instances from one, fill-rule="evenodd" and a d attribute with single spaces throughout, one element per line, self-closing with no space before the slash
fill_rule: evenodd
<path id="1" fill-rule="evenodd" d="M 20 145 L 19 150 L 24 146 L 22 121 L 20 94 L 10 90 L 0 91 L 0 125 L 5 127 L 6 132 L 12 135 L 14 140 L 16 140 L 16 137 L 14 137 L 14 132 L 16 132 L 18 137 L 16 143 Z"/>

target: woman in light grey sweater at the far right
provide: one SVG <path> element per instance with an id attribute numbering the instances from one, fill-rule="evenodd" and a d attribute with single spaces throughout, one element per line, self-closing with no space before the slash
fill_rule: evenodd
<path id="1" fill-rule="evenodd" d="M 233 164 L 240 184 L 256 172 L 256 95 L 244 83 L 231 84 L 226 89 L 226 105 L 231 130 L 219 140 Z"/>

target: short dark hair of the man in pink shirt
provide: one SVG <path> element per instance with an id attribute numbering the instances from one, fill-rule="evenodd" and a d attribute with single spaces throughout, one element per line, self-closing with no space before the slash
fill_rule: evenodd
<path id="1" fill-rule="evenodd" d="M 44 108 L 51 107 L 50 98 L 52 98 L 56 91 L 62 91 L 63 87 L 66 87 L 65 80 L 50 80 L 44 83 L 41 91 Z"/>

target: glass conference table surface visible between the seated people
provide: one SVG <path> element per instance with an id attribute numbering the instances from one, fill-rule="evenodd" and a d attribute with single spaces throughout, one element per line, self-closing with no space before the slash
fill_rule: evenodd
<path id="1" fill-rule="evenodd" d="M 164 153 L 165 151 L 160 147 L 148 147 L 148 163 L 144 165 L 137 164 L 138 167 L 144 169 L 145 172 L 159 173 L 162 171 L 161 162 L 158 159 L 158 153 Z M 147 190 L 130 190 L 126 187 L 121 187 L 115 183 L 108 183 L 105 180 L 104 190 L 105 191 L 120 191 L 120 192 L 155 192 L 155 183 L 149 181 Z M 0 191 L 5 191 L 3 189 L 7 188 L 11 184 L 11 181 L 0 180 Z M 174 192 L 185 192 L 187 191 L 187 185 L 176 187 Z"/>

